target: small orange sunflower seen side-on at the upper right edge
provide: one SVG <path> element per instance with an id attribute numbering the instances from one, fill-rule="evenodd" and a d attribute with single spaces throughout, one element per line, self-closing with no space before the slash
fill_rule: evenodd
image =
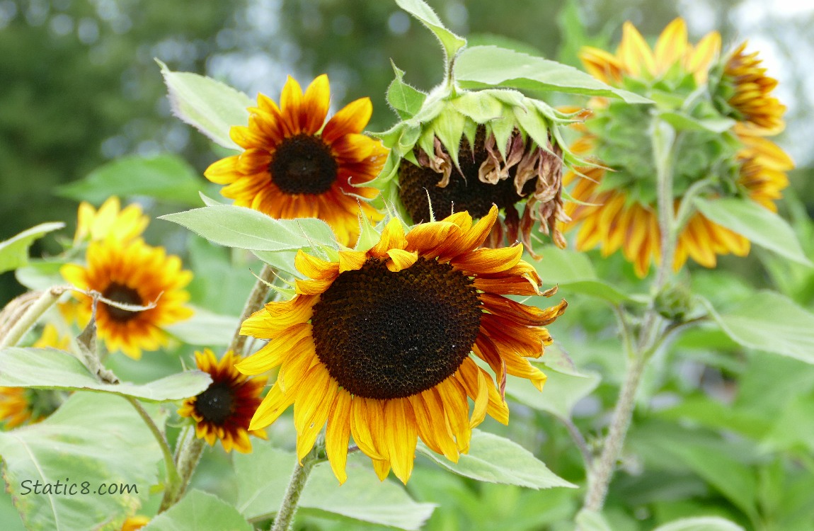
<path id="1" fill-rule="evenodd" d="M 741 124 L 738 130 L 745 134 L 761 136 L 780 133 L 785 124 L 783 113 L 786 106 L 770 95 L 777 80 L 766 76 L 766 68 L 760 68 L 758 52 L 746 55 L 746 42 L 729 55 L 724 64 L 721 85 L 731 93 L 727 103 Z"/>

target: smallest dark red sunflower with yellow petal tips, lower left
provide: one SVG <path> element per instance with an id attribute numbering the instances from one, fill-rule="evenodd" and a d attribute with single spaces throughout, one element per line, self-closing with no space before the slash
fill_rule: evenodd
<path id="1" fill-rule="evenodd" d="M 249 435 L 265 439 L 262 429 L 249 429 L 249 422 L 260 406 L 260 393 L 266 378 L 247 378 L 234 368 L 240 361 L 230 350 L 218 362 L 210 349 L 195 353 L 195 363 L 201 371 L 212 376 L 212 384 L 197 397 L 187 398 L 178 415 L 195 420 L 195 435 L 210 446 L 221 440 L 227 452 L 252 451 Z"/>

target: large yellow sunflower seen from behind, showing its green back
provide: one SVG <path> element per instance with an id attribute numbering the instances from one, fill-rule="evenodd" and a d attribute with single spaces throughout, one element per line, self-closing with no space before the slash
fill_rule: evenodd
<path id="1" fill-rule="evenodd" d="M 582 51 L 584 66 L 594 76 L 654 103 L 648 108 L 592 100 L 593 116 L 580 125 L 581 137 L 571 149 L 596 157 L 612 171 L 583 168 L 582 178 L 574 172 L 563 178 L 575 199 L 567 205 L 571 217 L 567 228 L 579 226 L 578 249 L 599 247 L 603 256 L 621 249 L 640 277 L 661 260 L 654 116 L 681 131 L 672 156 L 676 210 L 691 189 L 707 199 L 737 196 L 774 208 L 773 201 L 787 186 L 785 172 L 791 161 L 774 144 L 744 133 L 742 124 L 731 119 L 731 111 L 720 111 L 718 55 L 717 33 L 691 45 L 681 19 L 664 29 L 654 49 L 626 23 L 615 54 L 595 48 Z M 727 98 L 732 93 L 728 94 Z M 694 212 L 681 227 L 673 267 L 680 269 L 688 257 L 714 267 L 717 255 L 745 256 L 749 248 L 743 236 Z"/>

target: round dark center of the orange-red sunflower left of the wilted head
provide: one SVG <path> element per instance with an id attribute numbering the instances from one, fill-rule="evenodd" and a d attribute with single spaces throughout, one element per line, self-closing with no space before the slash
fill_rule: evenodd
<path id="1" fill-rule="evenodd" d="M 269 164 L 271 180 L 287 194 L 322 194 L 330 190 L 339 165 L 321 138 L 298 134 L 286 138 Z"/>

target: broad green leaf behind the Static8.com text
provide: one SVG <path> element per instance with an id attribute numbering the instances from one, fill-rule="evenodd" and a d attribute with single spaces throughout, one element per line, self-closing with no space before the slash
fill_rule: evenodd
<path id="1" fill-rule="evenodd" d="M 155 406 L 147 409 L 158 413 Z M 163 417 L 155 420 L 164 423 Z M 7 489 L 26 529 L 120 529 L 157 482 L 161 450 L 128 402 L 76 393 L 41 423 L 0 432 L 0 455 Z M 53 486 L 50 494 L 43 493 L 44 486 L 35 494 L 36 481 L 77 484 L 76 494 L 57 493 Z M 83 494 L 85 481 L 88 492 Z M 113 485 L 125 492 L 96 494 L 102 484 L 107 492 Z"/>

